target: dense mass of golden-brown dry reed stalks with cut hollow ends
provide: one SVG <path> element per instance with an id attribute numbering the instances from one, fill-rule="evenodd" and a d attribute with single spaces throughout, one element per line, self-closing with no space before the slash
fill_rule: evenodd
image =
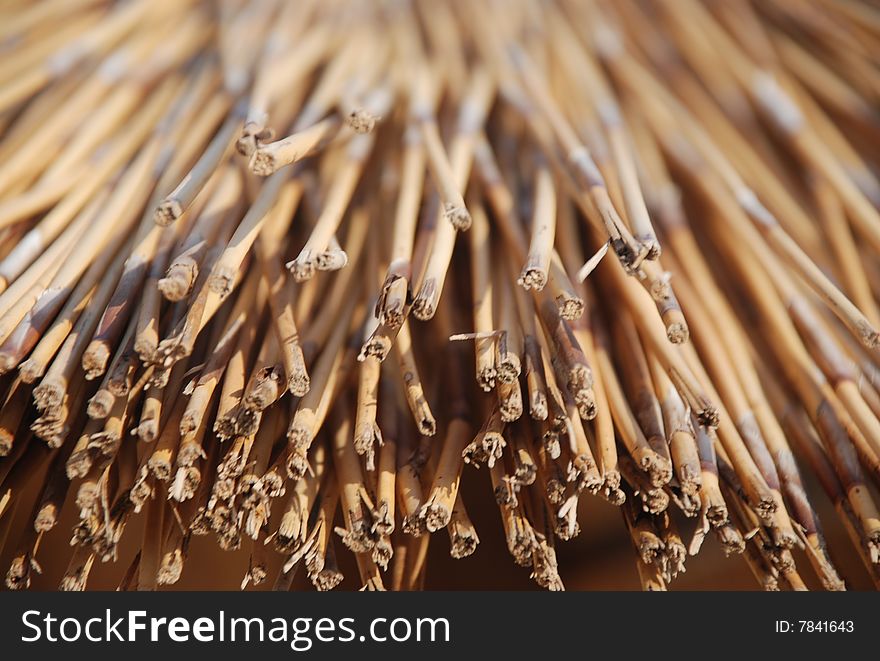
<path id="1" fill-rule="evenodd" d="M 8 587 L 75 509 L 64 589 L 127 530 L 122 589 L 193 535 L 418 588 L 474 468 L 545 588 L 586 498 L 645 589 L 706 536 L 843 589 L 825 495 L 880 581 L 874 5 L 7 0 L 0 47 Z"/>

